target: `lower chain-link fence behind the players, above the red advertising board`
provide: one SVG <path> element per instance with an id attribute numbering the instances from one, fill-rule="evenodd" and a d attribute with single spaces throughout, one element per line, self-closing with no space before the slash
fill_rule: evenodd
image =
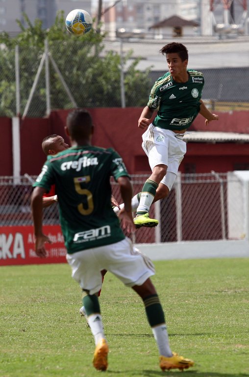
<path id="1" fill-rule="evenodd" d="M 31 181 L 36 177 L 0 177 L 0 226 L 32 225 Z M 133 175 L 134 193 L 140 192 L 147 175 Z M 112 192 L 122 202 L 118 184 Z M 152 205 L 150 217 L 159 225 L 140 228 L 136 243 L 244 239 L 247 233 L 246 190 L 233 173 L 179 174 L 168 198 Z M 236 198 L 236 200 L 234 200 Z M 44 210 L 44 224 L 59 224 L 56 204 Z"/>

